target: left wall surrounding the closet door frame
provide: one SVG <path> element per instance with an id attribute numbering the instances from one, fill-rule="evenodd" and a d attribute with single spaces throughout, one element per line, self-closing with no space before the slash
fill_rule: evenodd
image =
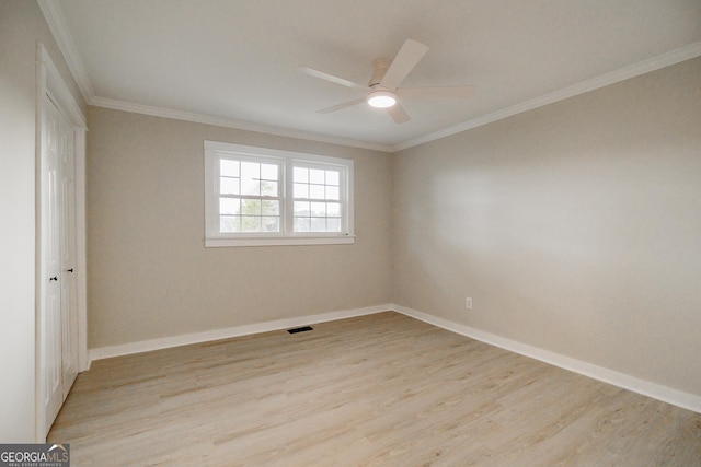
<path id="1" fill-rule="evenodd" d="M 38 4 L 0 0 L 0 443 L 34 442 L 37 42 L 82 103 Z"/>

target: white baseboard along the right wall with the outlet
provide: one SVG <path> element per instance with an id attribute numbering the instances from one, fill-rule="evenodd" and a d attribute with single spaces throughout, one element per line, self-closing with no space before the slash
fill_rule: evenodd
<path id="1" fill-rule="evenodd" d="M 485 332 L 480 329 L 474 329 L 469 326 L 460 325 L 444 318 L 439 318 L 437 316 L 429 315 L 427 313 L 418 312 L 406 306 L 397 304 L 392 304 L 391 306 L 392 310 L 402 313 L 403 315 L 420 319 L 424 323 L 428 323 L 430 325 L 466 337 L 470 337 L 474 340 L 499 347 L 510 352 L 519 353 L 521 355 L 526 355 L 531 359 L 536 359 L 541 362 L 591 377 L 594 380 L 602 381 L 605 383 L 622 387 L 623 389 L 632 390 L 633 393 L 642 394 L 644 396 L 662 400 L 663 402 L 673 404 L 677 407 L 681 407 L 682 409 L 701 413 L 701 396 L 682 393 L 681 390 L 640 380 L 624 373 L 606 369 L 604 366 L 597 366 L 591 363 L 583 362 L 582 360 L 572 359 L 560 353 L 506 339 L 504 337 Z"/>

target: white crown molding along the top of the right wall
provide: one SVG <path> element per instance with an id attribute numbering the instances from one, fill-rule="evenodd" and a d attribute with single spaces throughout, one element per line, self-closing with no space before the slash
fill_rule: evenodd
<path id="1" fill-rule="evenodd" d="M 630 67 L 624 67 L 609 73 L 601 74 L 600 77 L 593 78 L 590 80 L 582 81 L 572 86 L 564 87 L 552 93 L 541 95 L 539 97 L 522 102 L 520 104 L 513 105 L 510 107 L 502 108 L 482 117 L 473 118 L 464 121 L 460 125 L 445 128 L 443 130 L 435 131 L 433 133 L 424 135 L 409 141 L 404 141 L 391 147 L 392 152 L 399 152 L 404 149 L 413 148 L 415 145 L 424 144 L 430 141 L 435 141 L 441 138 L 449 137 L 472 128 L 481 127 L 503 118 L 512 117 L 524 112 L 532 110 L 538 107 L 553 104 L 565 98 L 574 97 L 579 94 L 587 93 L 589 91 L 598 90 L 599 87 L 616 84 L 621 81 L 625 81 L 631 78 L 639 77 L 641 74 L 650 73 L 655 70 L 659 70 L 665 67 L 669 67 L 685 60 L 697 58 L 701 56 L 701 42 L 690 44 L 686 47 L 681 47 L 666 54 L 658 55 L 656 57 L 643 60 Z"/>

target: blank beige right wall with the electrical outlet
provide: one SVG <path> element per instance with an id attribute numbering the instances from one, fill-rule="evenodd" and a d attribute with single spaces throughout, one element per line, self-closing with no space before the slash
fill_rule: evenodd
<path id="1" fill-rule="evenodd" d="M 395 154 L 394 301 L 701 395 L 700 77 L 690 60 Z"/>

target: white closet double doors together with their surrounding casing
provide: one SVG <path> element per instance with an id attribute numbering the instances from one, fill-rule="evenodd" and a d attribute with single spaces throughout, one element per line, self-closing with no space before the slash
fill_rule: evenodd
<path id="1" fill-rule="evenodd" d="M 87 364 L 85 117 L 41 44 L 37 59 L 35 441 L 44 443 L 81 362 Z"/>

